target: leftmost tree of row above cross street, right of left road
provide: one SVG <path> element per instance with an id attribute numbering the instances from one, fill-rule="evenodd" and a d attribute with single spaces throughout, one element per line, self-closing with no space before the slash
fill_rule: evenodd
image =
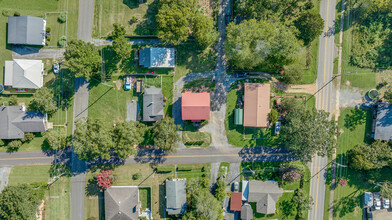
<path id="1" fill-rule="evenodd" d="M 97 119 L 76 121 L 73 139 L 73 149 L 81 160 L 111 158 L 112 136 L 111 128 Z"/>

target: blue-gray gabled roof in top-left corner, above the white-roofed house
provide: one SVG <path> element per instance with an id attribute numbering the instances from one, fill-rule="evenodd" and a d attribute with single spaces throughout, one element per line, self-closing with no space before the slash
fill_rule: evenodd
<path id="1" fill-rule="evenodd" d="M 8 43 L 45 46 L 46 21 L 32 16 L 8 17 Z"/>

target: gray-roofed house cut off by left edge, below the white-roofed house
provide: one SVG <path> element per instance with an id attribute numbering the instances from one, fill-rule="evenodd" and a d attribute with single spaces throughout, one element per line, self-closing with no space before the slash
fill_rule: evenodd
<path id="1" fill-rule="evenodd" d="M 47 117 L 24 106 L 0 106 L 0 139 L 22 139 L 27 132 L 48 130 Z"/>

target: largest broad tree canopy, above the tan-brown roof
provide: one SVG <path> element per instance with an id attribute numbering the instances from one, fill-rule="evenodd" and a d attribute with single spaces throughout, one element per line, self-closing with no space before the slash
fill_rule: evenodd
<path id="1" fill-rule="evenodd" d="M 276 69 L 289 65 L 298 56 L 300 45 L 284 25 L 247 20 L 227 26 L 226 56 L 238 68 L 264 65 Z"/>

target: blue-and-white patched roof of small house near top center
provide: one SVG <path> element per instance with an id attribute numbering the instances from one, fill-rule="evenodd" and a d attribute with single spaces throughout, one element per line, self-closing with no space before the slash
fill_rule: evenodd
<path id="1" fill-rule="evenodd" d="M 145 68 L 174 68 L 174 48 L 148 47 L 139 51 L 139 65 Z"/>

